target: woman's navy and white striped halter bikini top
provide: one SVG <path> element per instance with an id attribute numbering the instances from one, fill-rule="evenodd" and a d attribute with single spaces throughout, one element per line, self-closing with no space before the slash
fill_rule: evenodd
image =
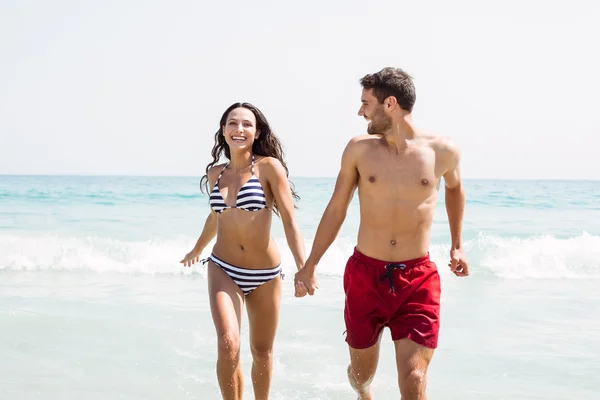
<path id="1" fill-rule="evenodd" d="M 229 166 L 229 163 L 221 170 L 221 173 L 215 182 L 215 186 L 210 193 L 210 207 L 215 210 L 217 214 L 221 214 L 228 208 L 239 208 L 244 211 L 260 211 L 265 208 L 267 206 L 265 192 L 263 191 L 258 178 L 254 175 L 254 154 L 252 155 L 252 176 L 240 188 L 235 201 L 235 206 L 226 205 L 225 199 L 219 190 L 219 181 L 227 166 Z"/>

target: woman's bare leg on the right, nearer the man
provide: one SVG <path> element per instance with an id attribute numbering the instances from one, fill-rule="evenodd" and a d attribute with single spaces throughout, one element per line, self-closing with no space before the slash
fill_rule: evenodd
<path id="1" fill-rule="evenodd" d="M 246 296 L 252 351 L 255 400 L 267 400 L 273 373 L 273 342 L 279 322 L 281 276 L 263 283 Z"/>

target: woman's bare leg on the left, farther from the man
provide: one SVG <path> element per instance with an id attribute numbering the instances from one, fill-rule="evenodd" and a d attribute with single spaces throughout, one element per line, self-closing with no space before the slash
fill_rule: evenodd
<path id="1" fill-rule="evenodd" d="M 210 310 L 217 331 L 217 379 L 224 400 L 241 400 L 244 387 L 240 366 L 240 326 L 244 295 L 235 282 L 208 262 Z"/>

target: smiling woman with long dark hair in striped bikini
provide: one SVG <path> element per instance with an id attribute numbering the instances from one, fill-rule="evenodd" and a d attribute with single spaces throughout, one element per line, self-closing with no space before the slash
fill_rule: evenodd
<path id="1" fill-rule="evenodd" d="M 215 165 L 222 153 L 229 162 Z M 294 198 L 281 143 L 262 112 L 249 103 L 231 105 L 221 117 L 213 161 L 200 181 L 210 193 L 210 214 L 191 266 L 217 236 L 208 262 L 208 292 L 218 336 L 217 377 L 224 399 L 241 399 L 240 325 L 248 312 L 252 383 L 257 400 L 269 398 L 272 349 L 281 300 L 280 254 L 271 239 L 271 211 L 281 216 L 296 267 L 304 266 L 304 241 L 294 219 Z"/>

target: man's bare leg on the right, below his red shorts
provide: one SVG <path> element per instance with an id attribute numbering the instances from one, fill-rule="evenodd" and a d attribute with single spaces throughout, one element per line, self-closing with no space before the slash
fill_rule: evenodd
<path id="1" fill-rule="evenodd" d="M 410 339 L 396 340 L 394 346 L 402 400 L 427 400 L 427 368 L 434 349 L 421 346 Z"/>

